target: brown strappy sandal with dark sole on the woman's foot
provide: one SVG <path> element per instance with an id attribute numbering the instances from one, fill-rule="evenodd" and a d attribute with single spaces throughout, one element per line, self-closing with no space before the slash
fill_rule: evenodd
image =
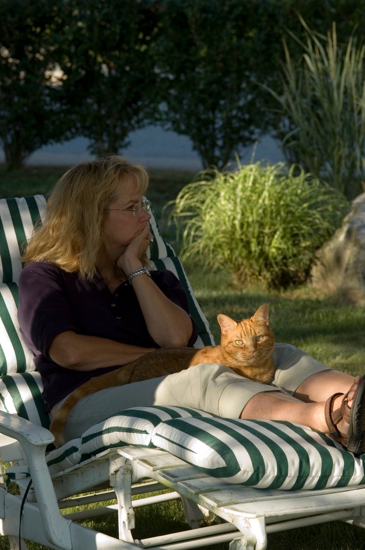
<path id="1" fill-rule="evenodd" d="M 344 394 L 335 393 L 325 403 L 324 415 L 328 433 L 351 453 L 365 453 L 365 376 L 356 390 L 351 409 L 347 406 L 347 395 L 349 395 L 349 392 L 347 392 L 342 399 L 340 408 L 336 411 L 333 410 L 334 400 L 339 395 Z M 337 428 L 338 422 L 342 419 L 349 423 L 349 435 L 347 437 Z"/>

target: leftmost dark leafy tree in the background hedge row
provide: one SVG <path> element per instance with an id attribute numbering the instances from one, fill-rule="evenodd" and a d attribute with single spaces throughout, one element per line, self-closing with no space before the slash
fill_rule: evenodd
<path id="1" fill-rule="evenodd" d="M 10 168 L 70 129 L 53 76 L 60 4 L 0 2 L 0 146 Z"/>

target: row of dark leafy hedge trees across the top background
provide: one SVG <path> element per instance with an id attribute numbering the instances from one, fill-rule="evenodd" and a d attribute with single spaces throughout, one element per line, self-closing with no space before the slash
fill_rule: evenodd
<path id="1" fill-rule="evenodd" d="M 282 91 L 283 39 L 299 38 L 294 64 L 302 54 L 298 14 L 324 33 L 335 21 L 348 41 L 365 0 L 0 0 L 8 166 L 76 135 L 115 153 L 159 123 L 188 136 L 205 168 L 226 167 L 285 119 L 265 86 Z"/>

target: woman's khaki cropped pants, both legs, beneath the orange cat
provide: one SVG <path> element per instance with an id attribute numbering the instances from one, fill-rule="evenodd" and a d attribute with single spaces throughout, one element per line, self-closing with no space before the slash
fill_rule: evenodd
<path id="1" fill-rule="evenodd" d="M 74 406 L 65 423 L 65 438 L 79 437 L 94 424 L 134 406 L 185 406 L 238 418 L 257 393 L 282 390 L 293 394 L 308 376 L 329 368 L 289 344 L 276 344 L 273 358 L 276 371 L 270 386 L 243 378 L 223 365 L 205 363 L 172 375 L 102 389 Z"/>

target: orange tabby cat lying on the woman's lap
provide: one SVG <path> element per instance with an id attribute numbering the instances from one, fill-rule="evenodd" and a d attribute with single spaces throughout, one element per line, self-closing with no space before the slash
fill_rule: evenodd
<path id="1" fill-rule="evenodd" d="M 274 335 L 269 327 L 268 307 L 259 307 L 250 319 L 234 321 L 218 315 L 221 343 L 205 348 L 161 348 L 143 355 L 105 375 L 96 376 L 72 392 L 50 424 L 55 444 L 63 444 L 63 426 L 72 407 L 91 393 L 111 386 L 122 386 L 147 378 L 157 378 L 179 372 L 200 363 L 218 363 L 232 368 L 241 376 L 268 384 L 274 373 L 272 351 Z"/>

